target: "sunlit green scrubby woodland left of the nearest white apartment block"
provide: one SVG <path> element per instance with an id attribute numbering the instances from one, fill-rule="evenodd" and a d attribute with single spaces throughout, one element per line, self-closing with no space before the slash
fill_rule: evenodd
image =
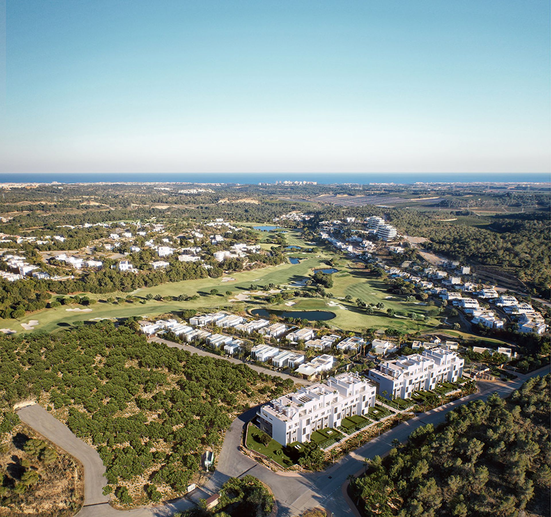
<path id="1" fill-rule="evenodd" d="M 133 321 L 0 341 L 4 407 L 34 397 L 66 422 L 98 449 L 108 489 L 122 503 L 185 491 L 231 417 L 293 386 L 243 364 L 148 343 Z"/>

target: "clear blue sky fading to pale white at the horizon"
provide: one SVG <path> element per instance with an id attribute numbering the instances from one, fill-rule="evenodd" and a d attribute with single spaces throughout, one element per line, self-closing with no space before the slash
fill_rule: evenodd
<path id="1" fill-rule="evenodd" d="M 537 171 L 548 0 L 8 0 L 0 171 Z"/>

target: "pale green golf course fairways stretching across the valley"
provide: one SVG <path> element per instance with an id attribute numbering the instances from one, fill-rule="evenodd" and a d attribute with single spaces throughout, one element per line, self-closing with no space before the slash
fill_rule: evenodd
<path id="1" fill-rule="evenodd" d="M 293 245 L 309 247 L 297 231 L 290 230 L 285 236 L 289 242 L 292 240 Z M 387 284 L 385 281 L 372 277 L 368 271 L 358 267 L 357 264 L 332 249 L 318 247 L 315 254 L 295 250 L 290 254 L 301 257 L 302 260 L 298 264 L 283 263 L 253 271 L 228 273 L 220 278 L 207 277 L 181 282 L 168 282 L 156 287 L 137 289 L 130 293 L 144 301 L 144 303 L 139 303 L 139 300 L 136 303 L 120 301 L 118 304 L 108 304 L 105 302 L 110 297 L 126 298 L 129 293 L 88 294 L 90 299 L 99 300 L 98 303 L 90 306 L 91 311 L 67 311 L 67 309 L 84 309 L 81 305 L 44 309 L 26 315 L 20 321 L 0 319 L 0 328 L 12 329 L 18 333 L 28 332 L 33 329 L 25 330 L 21 324 L 28 324 L 29 321 L 35 320 L 39 322 L 35 326 L 35 330 L 52 332 L 72 325 L 75 321 L 90 321 L 106 317 L 156 317 L 161 314 L 177 314 L 186 309 L 218 310 L 222 307 L 229 307 L 236 311 L 242 311 L 264 307 L 266 306 L 265 301 L 255 300 L 254 298 L 242 301 L 229 300 L 235 300 L 235 296 L 248 290 L 251 284 L 266 286 L 272 283 L 275 286 L 281 286 L 283 289 L 304 289 L 297 286 L 295 282 L 310 277 L 314 268 L 328 267 L 326 261 L 329 259 L 336 263 L 335 267 L 339 270 L 333 273 L 333 287 L 327 289 L 327 292 L 332 294 L 331 298 L 293 298 L 290 300 L 294 302 L 292 305 L 271 305 L 269 308 L 278 310 L 329 310 L 336 314 L 336 317 L 330 320 L 329 324 L 342 330 L 360 331 L 371 327 L 377 330 L 396 328 L 411 332 L 426 331 L 439 325 L 437 319 L 414 321 L 409 317 L 389 317 L 386 313 L 388 308 L 395 311 L 415 313 L 419 316 L 426 314 L 426 311 L 430 308 L 426 305 L 407 302 L 404 297 L 391 296 L 386 290 Z M 213 288 L 218 290 L 218 295 L 209 294 Z M 231 291 L 231 294 L 226 295 L 226 291 Z M 199 298 L 188 301 L 145 301 L 145 296 L 148 294 L 161 295 L 162 297 L 178 297 L 182 294 L 191 297 L 198 294 Z M 353 298 L 351 303 L 344 301 L 347 294 Z M 54 295 L 55 297 L 56 295 Z M 368 315 L 365 310 L 358 309 L 354 301 L 356 298 L 360 298 L 368 304 L 383 303 L 384 308 L 382 310 L 375 309 L 374 314 Z M 498 340 L 494 341 L 499 342 Z"/>

